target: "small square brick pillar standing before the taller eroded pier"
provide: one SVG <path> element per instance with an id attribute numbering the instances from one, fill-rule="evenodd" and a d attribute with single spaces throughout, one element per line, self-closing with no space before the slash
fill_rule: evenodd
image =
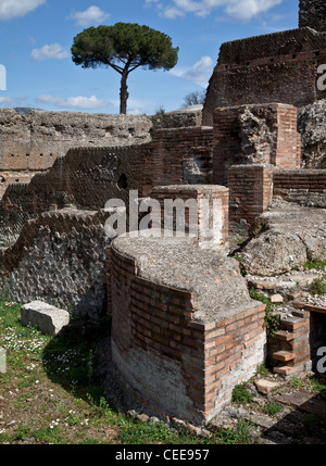
<path id="1" fill-rule="evenodd" d="M 230 227 L 249 225 L 264 213 L 273 194 L 272 165 L 234 165 L 228 173 Z"/>

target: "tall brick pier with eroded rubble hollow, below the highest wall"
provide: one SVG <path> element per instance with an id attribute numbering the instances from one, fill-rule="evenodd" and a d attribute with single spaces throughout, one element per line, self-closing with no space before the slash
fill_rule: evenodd
<path id="1" fill-rule="evenodd" d="M 227 186 L 234 164 L 300 166 L 297 109 L 285 104 L 241 105 L 214 112 L 213 181 Z"/>

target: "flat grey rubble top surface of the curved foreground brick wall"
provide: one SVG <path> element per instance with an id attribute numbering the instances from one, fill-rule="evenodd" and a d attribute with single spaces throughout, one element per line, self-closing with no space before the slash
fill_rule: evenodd
<path id="1" fill-rule="evenodd" d="M 151 237 L 152 231 L 148 230 L 148 236 L 120 236 L 113 249 L 137 262 L 139 277 L 192 292 L 195 320 L 220 322 L 262 305 L 250 298 L 235 259 L 197 248 L 187 236 Z"/>

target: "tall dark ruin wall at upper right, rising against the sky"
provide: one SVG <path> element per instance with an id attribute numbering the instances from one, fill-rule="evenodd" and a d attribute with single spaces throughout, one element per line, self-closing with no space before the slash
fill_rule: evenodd
<path id="1" fill-rule="evenodd" d="M 326 34 L 303 27 L 225 42 L 206 91 L 202 124 L 216 108 L 268 102 L 303 106 L 325 99 L 316 86 Z"/>

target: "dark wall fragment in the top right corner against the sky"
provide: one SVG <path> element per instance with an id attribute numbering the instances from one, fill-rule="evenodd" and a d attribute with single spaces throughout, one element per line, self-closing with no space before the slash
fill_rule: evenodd
<path id="1" fill-rule="evenodd" d="M 326 32 L 326 3 L 324 0 L 300 0 L 299 27 L 306 26 Z"/>

